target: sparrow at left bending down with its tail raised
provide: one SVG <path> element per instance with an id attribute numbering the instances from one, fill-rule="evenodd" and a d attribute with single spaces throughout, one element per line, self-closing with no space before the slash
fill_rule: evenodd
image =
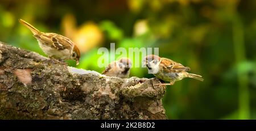
<path id="1" fill-rule="evenodd" d="M 36 40 L 38 40 L 40 48 L 50 58 L 76 60 L 76 65 L 79 64 L 80 50 L 70 39 L 57 33 L 40 32 L 22 19 L 19 19 L 19 22 L 30 29 Z"/>

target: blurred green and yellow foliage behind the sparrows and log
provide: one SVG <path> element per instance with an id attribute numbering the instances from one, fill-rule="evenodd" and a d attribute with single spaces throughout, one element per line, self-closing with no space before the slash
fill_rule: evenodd
<path id="1" fill-rule="evenodd" d="M 82 52 L 78 67 L 100 73 L 100 47 L 158 47 L 205 79 L 167 87 L 168 119 L 256 119 L 255 13 L 249 0 L 0 0 L 0 41 L 45 56 L 22 18 L 72 39 Z M 154 77 L 146 68 L 131 69 L 133 76 Z"/>

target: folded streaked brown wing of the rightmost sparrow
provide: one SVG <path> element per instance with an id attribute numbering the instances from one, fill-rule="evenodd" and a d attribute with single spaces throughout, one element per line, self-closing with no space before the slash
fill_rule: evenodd
<path id="1" fill-rule="evenodd" d="M 175 61 L 172 61 L 168 58 L 162 58 L 162 61 L 160 64 L 163 64 L 165 66 L 163 67 L 163 70 L 166 71 L 167 73 L 178 73 L 178 72 L 185 72 L 189 71 L 189 67 L 185 67 Z"/>

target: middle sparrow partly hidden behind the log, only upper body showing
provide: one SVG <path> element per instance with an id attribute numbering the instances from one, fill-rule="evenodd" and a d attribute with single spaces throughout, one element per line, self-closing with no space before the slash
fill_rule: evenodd
<path id="1" fill-rule="evenodd" d="M 102 74 L 109 77 L 129 78 L 131 61 L 129 58 L 121 58 L 109 64 Z"/>

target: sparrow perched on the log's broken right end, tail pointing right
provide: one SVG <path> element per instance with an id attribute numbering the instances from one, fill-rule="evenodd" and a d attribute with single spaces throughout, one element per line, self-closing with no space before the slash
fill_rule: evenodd
<path id="1" fill-rule="evenodd" d="M 143 59 L 143 64 L 147 66 L 148 73 L 154 74 L 155 77 L 168 81 L 170 83 L 156 84 L 160 86 L 173 85 L 176 81 L 189 77 L 199 81 L 204 81 L 201 75 L 187 73 L 189 67 L 185 67 L 168 58 L 160 58 L 154 54 L 148 55 Z"/>

